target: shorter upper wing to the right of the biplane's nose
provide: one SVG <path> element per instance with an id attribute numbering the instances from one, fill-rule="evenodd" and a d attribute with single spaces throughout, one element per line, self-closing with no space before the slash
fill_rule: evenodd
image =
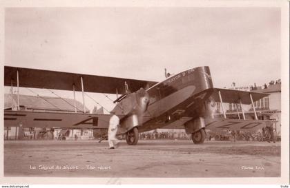
<path id="1" fill-rule="evenodd" d="M 242 104 L 251 104 L 250 94 L 253 98 L 253 101 L 258 101 L 260 98 L 264 98 L 265 96 L 269 96 L 269 94 L 257 93 L 257 92 L 244 92 L 238 90 L 226 90 L 220 88 L 209 89 L 213 90 L 213 94 L 211 97 L 217 102 L 220 102 L 219 92 L 222 96 L 223 103 L 239 103 L 240 100 Z"/>

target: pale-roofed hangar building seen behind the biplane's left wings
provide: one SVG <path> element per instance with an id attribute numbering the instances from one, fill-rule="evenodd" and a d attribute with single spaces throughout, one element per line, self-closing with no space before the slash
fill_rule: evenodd
<path id="1" fill-rule="evenodd" d="M 75 113 L 76 105 L 77 112 L 83 112 L 79 109 L 84 109 L 79 101 L 74 101 L 70 98 L 58 98 L 48 96 L 29 96 L 19 95 L 20 110 L 32 112 L 59 112 L 59 113 Z M 17 94 L 4 95 L 4 110 L 17 110 Z M 90 110 L 86 107 L 86 113 Z M 66 138 L 93 138 L 93 130 L 83 129 L 46 129 L 36 127 L 4 127 L 4 138 L 9 140 L 14 139 L 54 139 L 62 134 Z"/>

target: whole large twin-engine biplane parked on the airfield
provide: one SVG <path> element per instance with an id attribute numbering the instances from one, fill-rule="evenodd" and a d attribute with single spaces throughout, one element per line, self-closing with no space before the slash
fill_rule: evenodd
<path id="1" fill-rule="evenodd" d="M 204 143 L 205 129 L 255 130 L 270 121 L 246 120 L 244 110 L 237 113 L 239 119 L 226 118 L 223 103 L 253 105 L 254 101 L 268 94 L 226 90 L 213 87 L 209 67 L 195 67 L 173 74 L 161 82 L 124 79 L 107 76 L 36 70 L 24 67 L 4 68 L 4 85 L 17 87 L 71 90 L 120 94 L 113 103 L 112 112 L 119 116 L 117 134 L 126 135 L 128 145 L 136 145 L 138 135 L 157 128 L 185 129 L 193 143 Z M 145 90 L 148 100 L 140 103 L 138 92 Z M 216 102 L 220 102 L 222 116 L 214 116 Z M 144 104 L 144 103 L 143 103 Z M 255 107 L 253 105 L 253 111 Z M 5 110 L 5 127 L 61 127 L 95 131 L 108 129 L 110 114 L 28 112 Z"/>

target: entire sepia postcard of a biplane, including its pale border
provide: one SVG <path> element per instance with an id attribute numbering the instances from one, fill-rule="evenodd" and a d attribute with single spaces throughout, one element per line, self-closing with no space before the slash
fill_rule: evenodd
<path id="1" fill-rule="evenodd" d="M 3 178 L 285 183 L 283 24 L 277 5 L 3 8 Z"/>

